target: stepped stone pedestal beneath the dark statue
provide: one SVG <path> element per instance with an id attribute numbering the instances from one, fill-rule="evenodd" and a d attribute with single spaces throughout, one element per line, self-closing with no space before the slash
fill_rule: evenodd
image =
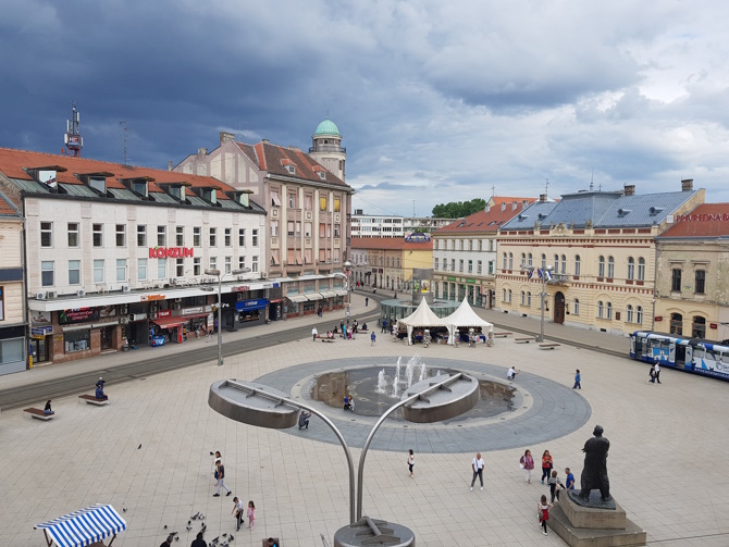
<path id="1" fill-rule="evenodd" d="M 571 490 L 574 492 L 574 490 Z M 559 501 L 549 511 L 547 524 L 570 547 L 628 547 L 645 545 L 646 533 L 630 519 L 615 500 L 615 509 L 578 505 L 569 495 L 559 493 Z M 600 500 L 600 490 L 593 490 Z M 572 494 L 573 495 L 573 494 Z M 591 496 L 591 497 L 592 497 Z"/>

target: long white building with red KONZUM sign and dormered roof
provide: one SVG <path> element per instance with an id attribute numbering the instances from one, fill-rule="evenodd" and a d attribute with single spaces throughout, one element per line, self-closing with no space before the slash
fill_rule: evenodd
<path id="1" fill-rule="evenodd" d="M 262 321 L 265 213 L 212 177 L 0 149 L 23 211 L 30 355 L 64 362 Z M 247 273 L 234 275 L 234 271 Z"/>

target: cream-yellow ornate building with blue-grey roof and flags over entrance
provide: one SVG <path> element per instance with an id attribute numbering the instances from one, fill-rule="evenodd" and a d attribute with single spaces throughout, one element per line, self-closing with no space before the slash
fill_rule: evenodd
<path id="1" fill-rule="evenodd" d="M 653 323 L 655 238 L 669 214 L 704 201 L 683 181 L 681 191 L 635 195 L 580 191 L 549 202 L 545 196 L 499 229 L 497 308 L 539 318 L 542 281 L 545 319 L 614 334 Z"/>

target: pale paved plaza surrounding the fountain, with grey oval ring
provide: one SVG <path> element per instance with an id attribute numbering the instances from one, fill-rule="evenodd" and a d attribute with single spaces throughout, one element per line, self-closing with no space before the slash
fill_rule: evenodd
<path id="1" fill-rule="evenodd" d="M 355 297 L 355 313 L 363 311 L 363 297 Z M 294 323 L 261 325 L 242 336 Z M 334 323 L 330 314 L 318 323 L 319 331 Z M 574 334 L 582 343 L 590 336 Z M 722 472 L 729 452 L 729 384 L 664 369 L 663 384 L 651 385 L 646 364 L 566 345 L 540 350 L 498 338 L 492 348 L 423 348 L 394 344 L 379 332 L 374 346 L 367 336 L 334 344 L 308 336 L 228 357 L 222 368 L 210 361 L 108 384 L 108 407 L 82 405 L 79 394 L 58 398 L 57 418 L 48 423 L 30 420 L 21 409 L 3 410 L 0 545 L 45 545 L 35 524 L 104 502 L 127 522 L 114 546 L 156 547 L 170 531 L 180 532 L 178 545 L 188 546 L 194 534 L 186 524 L 198 511 L 206 515 L 208 540 L 233 533 L 234 546 L 260 546 L 271 535 L 282 538 L 282 547 L 322 546 L 323 534 L 331 546 L 334 532 L 347 523 L 348 483 L 342 448 L 331 443 L 322 422 L 313 418 L 302 432 L 235 423 L 208 407 L 209 387 L 221 378 L 258 380 L 304 396 L 310 378 L 321 372 L 393 363 L 416 352 L 429 366 L 462 366 L 504 383 L 506 369 L 515 364 L 522 371 L 515 385 L 523 403 L 501 417 L 505 420 L 490 418 L 464 427 L 387 424 L 367 459 L 366 514 L 410 527 L 419 546 L 565 545 L 552 532 L 542 535 L 535 506 L 548 489 L 536 470 L 533 484 L 524 484 L 519 457 L 530 448 L 539 460 L 548 449 L 560 477 L 570 467 L 579 482 L 582 447 L 601 424 L 611 445 L 611 493 L 647 531 L 648 545 L 729 545 L 729 478 Z M 89 371 L 91 393 L 97 371 L 134 357 L 0 377 L 0 389 L 22 384 L 24 375 L 50 377 L 69 366 L 74 373 Z M 571 386 L 578 368 L 582 389 L 576 393 Z M 362 435 L 373 420 L 338 409 L 329 415 L 344 425 L 357 463 Z M 408 448 L 416 451 L 415 478 L 406 464 Z M 233 493 L 256 502 L 252 532 L 235 532 L 233 496 L 212 497 L 214 450 L 222 452 Z M 486 462 L 484 492 L 469 492 L 475 450 Z M 194 524 L 195 531 L 199 524 Z"/>

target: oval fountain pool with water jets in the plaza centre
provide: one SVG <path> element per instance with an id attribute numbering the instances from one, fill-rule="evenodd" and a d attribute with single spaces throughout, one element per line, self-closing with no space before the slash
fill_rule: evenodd
<path id="1" fill-rule="evenodd" d="M 384 375 L 382 374 L 383 370 Z M 412 384 L 420 380 L 421 372 L 421 368 L 417 366 L 413 371 Z M 438 374 L 455 374 L 456 372 L 452 369 L 427 366 L 424 378 Z M 403 391 L 407 389 L 405 366 L 401 366 L 400 370 L 397 391 L 395 390 L 395 366 L 366 366 L 341 372 L 328 372 L 314 378 L 309 395 L 311 399 L 336 409 L 344 407 L 345 397 L 354 397 L 355 414 L 376 418 L 398 402 Z M 517 389 L 511 386 L 480 380 L 479 393 L 480 400 L 473 409 L 443 423 L 459 422 L 472 418 L 492 418 L 515 410 L 514 398 Z M 400 412 L 394 412 L 390 415 L 390 419 L 405 421 Z"/>

